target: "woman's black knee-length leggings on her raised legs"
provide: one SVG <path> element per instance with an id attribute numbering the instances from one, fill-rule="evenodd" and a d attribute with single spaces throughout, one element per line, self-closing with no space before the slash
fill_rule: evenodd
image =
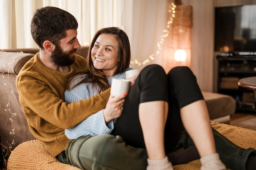
<path id="1" fill-rule="evenodd" d="M 130 89 L 124 110 L 115 123 L 113 135 L 120 135 L 136 148 L 146 148 L 139 122 L 139 104 L 149 101 L 167 101 L 168 117 L 165 127 L 165 149 L 170 152 L 184 127 L 180 108 L 203 99 L 194 74 L 188 67 L 175 67 L 166 74 L 159 65 L 148 65 L 141 70 Z"/>

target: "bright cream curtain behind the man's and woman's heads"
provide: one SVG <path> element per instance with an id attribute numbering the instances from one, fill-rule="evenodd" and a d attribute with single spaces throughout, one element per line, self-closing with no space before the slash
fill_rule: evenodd
<path id="1" fill-rule="evenodd" d="M 30 21 L 36 9 L 54 6 L 75 16 L 78 39 L 88 45 L 102 27 L 121 27 L 124 0 L 0 0 L 0 48 L 38 47 L 30 34 Z"/>

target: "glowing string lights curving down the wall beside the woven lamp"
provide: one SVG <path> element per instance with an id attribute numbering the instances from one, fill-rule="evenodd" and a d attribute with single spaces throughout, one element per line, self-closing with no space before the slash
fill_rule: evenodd
<path id="1" fill-rule="evenodd" d="M 170 33 L 169 28 L 170 28 L 170 25 L 173 23 L 173 18 L 175 18 L 175 12 L 176 12 L 175 8 L 176 8 L 176 5 L 174 3 L 171 3 L 171 6 L 169 6 L 169 9 L 168 9 L 170 16 L 166 25 L 167 29 L 163 30 L 163 35 L 160 36 L 160 40 L 159 42 L 157 42 L 157 48 L 158 48 L 157 51 L 151 54 L 150 56 L 148 56 L 148 59 L 144 61 L 139 61 L 138 59 L 135 59 L 134 61 L 130 61 L 131 64 L 136 64 L 138 66 L 146 65 L 146 63 L 149 63 L 150 60 L 155 60 L 155 57 L 157 57 L 160 54 L 160 51 L 162 50 L 162 45 L 164 43 L 164 39 L 169 36 L 169 33 Z"/>

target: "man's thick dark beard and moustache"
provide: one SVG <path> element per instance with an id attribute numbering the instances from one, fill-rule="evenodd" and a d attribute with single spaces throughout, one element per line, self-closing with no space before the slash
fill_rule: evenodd
<path id="1" fill-rule="evenodd" d="M 69 66 L 72 65 L 75 61 L 75 56 L 70 56 L 76 52 L 76 49 L 65 53 L 59 45 L 55 46 L 54 51 L 52 51 L 51 60 L 54 64 L 59 66 Z"/>

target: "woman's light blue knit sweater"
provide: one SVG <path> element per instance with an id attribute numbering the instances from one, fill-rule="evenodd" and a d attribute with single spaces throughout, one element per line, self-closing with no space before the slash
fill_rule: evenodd
<path id="1" fill-rule="evenodd" d="M 108 82 L 111 85 L 112 78 L 126 78 L 125 72 L 130 70 L 132 68 L 125 69 L 124 72 L 116 74 L 112 77 L 108 78 Z M 81 80 L 83 80 L 86 76 L 86 74 L 78 75 L 73 79 L 73 82 L 71 85 L 75 85 L 79 83 Z M 99 93 L 99 86 L 94 85 L 92 86 L 92 83 L 83 83 L 76 87 L 74 87 L 72 90 L 65 91 L 65 102 L 71 103 L 75 101 L 79 101 L 85 98 L 89 98 L 91 96 L 94 96 Z M 86 109 L 86 107 L 85 107 Z M 91 135 L 96 136 L 99 134 L 110 134 L 112 130 L 114 129 L 114 123 L 113 121 L 105 123 L 105 119 L 103 116 L 103 110 L 100 110 L 99 112 L 92 114 L 87 119 L 76 125 L 74 128 L 71 129 L 65 129 L 65 134 L 67 138 L 69 139 L 76 139 L 81 136 L 85 135 Z"/>

